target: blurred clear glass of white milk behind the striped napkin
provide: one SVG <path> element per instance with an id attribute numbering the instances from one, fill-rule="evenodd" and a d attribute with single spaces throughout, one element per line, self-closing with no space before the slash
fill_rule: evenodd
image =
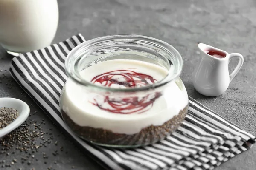
<path id="1" fill-rule="evenodd" d="M 57 27 L 57 0 L 0 0 L 0 45 L 12 55 L 50 45 Z"/>

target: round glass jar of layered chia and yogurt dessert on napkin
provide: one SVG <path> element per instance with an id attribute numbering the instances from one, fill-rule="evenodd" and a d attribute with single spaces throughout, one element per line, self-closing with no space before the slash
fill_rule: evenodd
<path id="1" fill-rule="evenodd" d="M 133 65 L 137 72 L 125 70 Z M 139 147 L 163 140 L 188 111 L 182 66 L 174 47 L 151 37 L 114 35 L 84 42 L 65 62 L 64 122 L 82 139 L 103 146 Z M 122 70 L 116 74 L 118 67 Z M 156 78 L 158 72 L 163 78 Z M 120 75 L 118 81 L 113 78 Z"/>

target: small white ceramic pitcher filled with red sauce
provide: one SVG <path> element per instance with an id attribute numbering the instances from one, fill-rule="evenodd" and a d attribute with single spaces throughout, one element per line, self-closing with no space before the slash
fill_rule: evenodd
<path id="1" fill-rule="evenodd" d="M 193 85 L 199 93 L 205 96 L 219 96 L 223 94 L 232 79 L 236 76 L 244 63 L 244 57 L 239 53 L 228 54 L 226 51 L 200 43 L 201 61 L 193 74 Z M 229 74 L 228 64 L 234 57 L 239 58 L 238 65 Z"/>

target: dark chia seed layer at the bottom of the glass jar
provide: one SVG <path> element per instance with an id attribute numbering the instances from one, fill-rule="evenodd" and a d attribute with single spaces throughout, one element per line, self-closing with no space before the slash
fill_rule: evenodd
<path id="1" fill-rule="evenodd" d="M 113 133 L 111 130 L 102 128 L 93 128 L 88 126 L 79 126 L 61 110 L 64 122 L 82 139 L 99 145 L 113 147 L 132 147 L 154 144 L 163 140 L 174 132 L 181 124 L 188 111 L 188 105 L 181 110 L 172 119 L 166 121 L 160 126 L 148 126 L 143 128 L 139 133 L 127 135 L 122 133 Z"/>

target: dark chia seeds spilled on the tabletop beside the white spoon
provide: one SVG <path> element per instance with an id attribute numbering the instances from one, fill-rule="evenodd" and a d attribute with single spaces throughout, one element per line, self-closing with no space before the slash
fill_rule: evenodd
<path id="1" fill-rule="evenodd" d="M 1 121 L 2 119 L 0 116 L 0 122 Z M 8 157 L 11 153 L 13 154 L 16 152 L 23 152 L 23 157 L 21 157 L 19 160 L 17 160 L 16 158 L 9 158 L 9 161 L 8 159 L 0 160 L 0 169 L 4 169 L 2 167 L 12 167 L 18 161 L 20 161 L 22 164 L 31 165 L 33 164 L 33 161 L 38 161 L 38 158 L 35 158 L 36 155 L 34 153 L 38 152 L 41 147 L 44 147 L 44 138 L 47 139 L 48 143 L 57 142 L 52 141 L 53 136 L 44 136 L 47 133 L 47 130 L 42 131 L 41 128 L 38 127 L 38 123 L 39 122 L 37 121 L 32 121 L 29 116 L 29 118 L 22 125 L 17 127 L 4 138 L 0 139 L 0 157 L 1 154 L 6 154 L 6 157 Z M 41 142 L 38 140 L 40 138 L 43 139 Z M 45 146 L 47 147 L 48 145 Z M 55 149 L 58 149 L 58 147 L 56 147 Z M 38 152 L 38 154 L 39 153 L 40 151 Z M 45 164 L 47 164 L 46 160 L 48 159 L 48 156 L 46 155 L 46 153 L 42 154 L 42 159 L 44 159 Z M 58 155 L 57 150 L 55 150 L 54 155 Z M 17 169 L 18 168 L 19 167 L 17 167 Z M 12 169 L 14 169 L 14 167 Z"/>

